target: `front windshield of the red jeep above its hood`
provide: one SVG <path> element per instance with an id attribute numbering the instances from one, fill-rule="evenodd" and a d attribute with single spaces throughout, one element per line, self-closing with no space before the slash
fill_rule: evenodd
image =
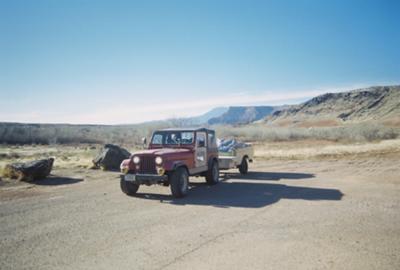
<path id="1" fill-rule="evenodd" d="M 189 145 L 193 142 L 193 131 L 156 131 L 151 139 L 153 145 Z"/>

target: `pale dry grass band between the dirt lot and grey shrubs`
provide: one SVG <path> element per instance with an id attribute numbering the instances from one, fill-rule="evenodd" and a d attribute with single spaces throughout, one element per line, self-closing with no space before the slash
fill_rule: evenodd
<path id="1" fill-rule="evenodd" d="M 101 145 L 0 146 L 0 172 L 6 164 L 54 157 L 54 168 L 90 168 Z M 128 148 L 133 152 L 136 149 Z M 298 140 L 254 143 L 256 159 L 299 160 L 395 154 L 400 157 L 400 139 L 345 143 L 327 140 Z"/>

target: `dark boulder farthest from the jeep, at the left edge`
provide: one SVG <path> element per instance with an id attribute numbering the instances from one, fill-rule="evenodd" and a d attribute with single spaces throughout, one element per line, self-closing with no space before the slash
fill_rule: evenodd
<path id="1" fill-rule="evenodd" d="M 3 169 L 3 176 L 28 182 L 44 179 L 50 174 L 53 163 L 54 158 L 8 164 Z"/>

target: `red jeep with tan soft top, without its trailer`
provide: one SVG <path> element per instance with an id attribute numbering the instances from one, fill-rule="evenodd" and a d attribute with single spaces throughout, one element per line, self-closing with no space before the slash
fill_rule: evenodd
<path id="1" fill-rule="evenodd" d="M 174 197 L 188 192 L 189 176 L 219 181 L 215 132 L 206 128 L 163 129 L 153 133 L 148 150 L 133 153 L 121 163 L 121 189 L 134 195 L 140 185 L 163 184 Z"/>

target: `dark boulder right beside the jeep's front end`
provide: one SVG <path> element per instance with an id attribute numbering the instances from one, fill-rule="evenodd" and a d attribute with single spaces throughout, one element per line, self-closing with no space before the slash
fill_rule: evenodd
<path id="1" fill-rule="evenodd" d="M 95 168 L 103 170 L 115 171 L 119 170 L 119 166 L 124 159 L 131 156 L 126 149 L 113 144 L 106 144 L 104 149 L 93 159 Z"/>

